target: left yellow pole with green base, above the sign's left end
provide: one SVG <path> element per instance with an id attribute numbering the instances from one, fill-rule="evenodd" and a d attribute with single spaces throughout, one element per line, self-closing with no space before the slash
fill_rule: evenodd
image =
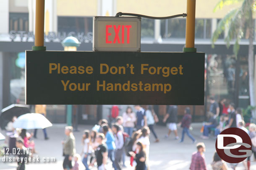
<path id="1" fill-rule="evenodd" d="M 44 47 L 44 0 L 36 1 L 35 46 L 33 50 L 46 50 Z"/>

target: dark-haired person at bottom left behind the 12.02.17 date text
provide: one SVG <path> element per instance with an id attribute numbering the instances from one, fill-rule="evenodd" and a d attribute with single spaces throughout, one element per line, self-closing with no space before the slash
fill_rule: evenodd
<path id="1" fill-rule="evenodd" d="M 24 141 L 22 139 L 18 139 L 16 141 L 16 147 L 19 149 L 17 170 L 25 170 L 25 158 L 28 154 L 26 152 L 26 147 L 24 146 Z"/>

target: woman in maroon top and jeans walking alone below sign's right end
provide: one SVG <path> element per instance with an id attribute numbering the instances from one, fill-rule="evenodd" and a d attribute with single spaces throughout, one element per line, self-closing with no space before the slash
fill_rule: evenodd
<path id="1" fill-rule="evenodd" d="M 185 113 L 185 115 L 183 116 L 183 118 L 180 122 L 181 127 L 183 128 L 180 143 L 184 142 L 185 134 L 187 134 L 188 137 L 191 138 L 192 143 L 195 143 L 196 142 L 195 138 L 189 133 L 189 127 L 191 125 L 191 120 L 192 120 L 189 107 L 187 107 L 185 109 L 184 113 Z"/>

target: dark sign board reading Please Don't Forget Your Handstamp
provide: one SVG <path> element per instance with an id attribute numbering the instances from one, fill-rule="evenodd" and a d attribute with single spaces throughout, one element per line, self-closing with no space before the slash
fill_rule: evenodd
<path id="1" fill-rule="evenodd" d="M 204 53 L 26 51 L 26 104 L 204 104 Z"/>

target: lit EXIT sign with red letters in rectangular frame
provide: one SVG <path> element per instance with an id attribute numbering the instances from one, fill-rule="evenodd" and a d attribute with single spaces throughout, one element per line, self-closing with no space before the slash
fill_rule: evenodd
<path id="1" fill-rule="evenodd" d="M 94 17 L 93 51 L 141 51 L 141 18 Z"/>

